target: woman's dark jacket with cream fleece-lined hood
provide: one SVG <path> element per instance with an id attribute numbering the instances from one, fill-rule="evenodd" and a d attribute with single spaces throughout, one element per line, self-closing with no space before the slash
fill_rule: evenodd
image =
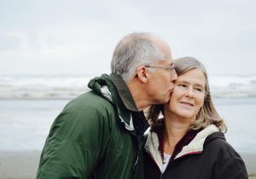
<path id="1" fill-rule="evenodd" d="M 206 132 L 209 128 L 212 128 L 212 131 Z M 151 147 L 152 153 L 150 147 L 146 148 L 147 152 L 144 153 L 146 179 L 248 178 L 245 164 L 239 154 L 225 141 L 224 134 L 214 130 L 212 125 L 201 130 L 188 146 L 184 146 L 182 151 L 169 161 L 163 174 L 160 172 L 161 161 L 157 161 L 159 152 L 152 151 L 154 147 Z"/>

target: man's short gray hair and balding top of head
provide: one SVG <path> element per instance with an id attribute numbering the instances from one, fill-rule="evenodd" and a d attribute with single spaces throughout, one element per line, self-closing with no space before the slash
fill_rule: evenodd
<path id="1" fill-rule="evenodd" d="M 163 60 L 164 54 L 155 43 L 160 39 L 150 33 L 131 33 L 121 39 L 113 51 L 111 72 L 130 81 L 142 65 L 153 65 Z"/>

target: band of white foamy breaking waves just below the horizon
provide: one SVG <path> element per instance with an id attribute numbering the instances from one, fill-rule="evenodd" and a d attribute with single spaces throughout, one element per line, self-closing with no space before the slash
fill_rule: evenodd
<path id="1" fill-rule="evenodd" d="M 86 76 L 0 76 L 0 99 L 72 99 L 88 90 Z M 210 76 L 213 97 L 256 97 L 256 76 Z"/>

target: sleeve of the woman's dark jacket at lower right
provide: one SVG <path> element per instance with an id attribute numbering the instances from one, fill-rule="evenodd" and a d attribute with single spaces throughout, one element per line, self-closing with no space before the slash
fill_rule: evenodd
<path id="1" fill-rule="evenodd" d="M 214 171 L 216 179 L 247 179 L 247 169 L 240 155 L 230 144 L 226 143 L 218 153 L 218 160 Z"/>

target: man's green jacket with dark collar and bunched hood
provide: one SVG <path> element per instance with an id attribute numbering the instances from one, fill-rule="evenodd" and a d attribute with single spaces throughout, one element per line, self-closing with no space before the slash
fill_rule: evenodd
<path id="1" fill-rule="evenodd" d="M 92 90 L 70 101 L 55 118 L 37 178 L 142 179 L 148 123 L 125 82 L 104 74 L 88 86 Z"/>

